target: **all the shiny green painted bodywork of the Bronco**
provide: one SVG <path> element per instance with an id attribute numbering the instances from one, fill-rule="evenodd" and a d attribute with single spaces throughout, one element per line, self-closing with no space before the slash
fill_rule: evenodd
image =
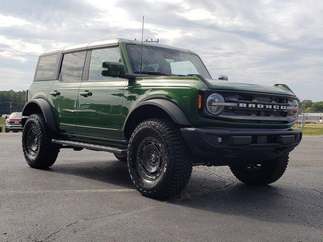
<path id="1" fill-rule="evenodd" d="M 132 73 L 126 44 L 139 44 L 139 41 L 120 40 L 119 48 L 126 72 Z M 144 45 L 153 45 L 144 42 Z M 155 45 L 153 45 L 155 46 Z M 158 45 L 162 48 L 167 46 Z M 188 51 L 172 47 L 173 49 Z M 188 51 L 189 52 L 189 51 Z M 264 87 L 253 84 L 231 83 L 208 79 L 214 90 L 240 90 L 293 95 L 284 87 Z M 60 132 L 70 134 L 69 139 L 94 143 L 124 145 L 123 125 L 126 117 L 137 104 L 150 99 L 165 99 L 176 104 L 194 127 L 239 127 L 277 128 L 270 124 L 239 124 L 199 116 L 197 96 L 206 84 L 196 77 L 142 77 L 134 81 L 115 78 L 104 81 L 83 81 L 62 83 L 55 81 L 33 82 L 28 90 L 28 100 L 43 98 L 48 100 L 53 114 L 59 123 Z M 79 92 L 92 92 L 83 97 Z M 59 91 L 60 96 L 49 95 Z M 279 128 L 287 128 L 290 125 Z M 79 135 L 79 136 L 75 136 Z M 94 139 L 94 140 L 93 140 Z M 119 142 L 119 143 L 118 143 Z"/>

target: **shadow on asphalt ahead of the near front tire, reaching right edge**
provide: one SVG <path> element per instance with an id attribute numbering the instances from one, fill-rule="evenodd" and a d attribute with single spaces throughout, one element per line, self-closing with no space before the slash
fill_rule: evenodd
<path id="1" fill-rule="evenodd" d="M 318 193 L 311 193 L 304 188 L 291 185 L 273 184 L 268 186 L 248 186 L 239 183 L 224 185 L 221 178 L 210 178 L 213 188 L 196 192 L 194 185 L 201 180 L 196 178 L 171 204 L 211 212 L 215 216 L 242 216 L 246 221 L 303 225 L 309 228 L 322 229 L 321 215 L 323 206 Z M 204 181 L 204 179 L 203 179 Z M 213 215 L 213 216 L 214 216 Z"/>

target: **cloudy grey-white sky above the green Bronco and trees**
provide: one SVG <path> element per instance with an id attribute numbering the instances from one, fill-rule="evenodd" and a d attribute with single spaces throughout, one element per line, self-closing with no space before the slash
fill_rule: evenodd
<path id="1" fill-rule="evenodd" d="M 0 90 L 25 90 L 38 55 L 122 37 L 159 38 L 200 54 L 213 78 L 323 100 L 323 1 L 6 1 L 0 8 Z"/>

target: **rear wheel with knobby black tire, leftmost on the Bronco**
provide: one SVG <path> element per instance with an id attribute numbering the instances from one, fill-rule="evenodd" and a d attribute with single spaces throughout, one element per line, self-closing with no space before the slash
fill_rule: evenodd
<path id="1" fill-rule="evenodd" d="M 22 132 L 22 149 L 28 165 L 43 169 L 55 163 L 60 152 L 59 146 L 51 143 L 55 137 L 56 134 L 49 130 L 42 114 L 31 114 L 28 117 Z"/>

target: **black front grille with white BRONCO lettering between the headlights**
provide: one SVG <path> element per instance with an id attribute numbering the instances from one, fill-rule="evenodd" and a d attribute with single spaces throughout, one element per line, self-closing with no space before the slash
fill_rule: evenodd
<path id="1" fill-rule="evenodd" d="M 292 124 L 296 117 L 291 110 L 292 101 L 296 99 L 292 95 L 271 94 L 235 90 L 205 90 L 200 93 L 206 103 L 211 93 L 220 93 L 225 102 L 224 110 L 218 115 L 208 112 L 206 105 L 199 114 L 206 118 L 246 124 Z"/>

